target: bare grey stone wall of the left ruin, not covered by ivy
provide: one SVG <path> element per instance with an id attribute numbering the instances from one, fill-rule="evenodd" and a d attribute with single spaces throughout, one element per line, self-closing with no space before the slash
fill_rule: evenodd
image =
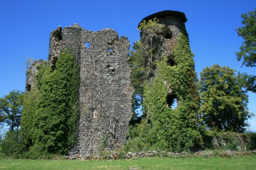
<path id="1" fill-rule="evenodd" d="M 67 49 L 80 66 L 80 118 L 70 156 L 113 150 L 126 141 L 134 92 L 129 46 L 128 39 L 119 38 L 113 29 L 92 32 L 74 24 L 51 32 L 48 62 L 52 68 Z M 27 82 L 33 78 L 27 77 Z"/>

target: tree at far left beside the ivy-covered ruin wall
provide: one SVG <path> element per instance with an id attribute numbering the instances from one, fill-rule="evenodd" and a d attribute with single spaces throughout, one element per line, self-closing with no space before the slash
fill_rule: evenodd
<path id="1" fill-rule="evenodd" d="M 19 131 L 20 116 L 23 103 L 23 92 L 12 90 L 4 98 L 0 98 L 0 115 L 10 131 Z"/>

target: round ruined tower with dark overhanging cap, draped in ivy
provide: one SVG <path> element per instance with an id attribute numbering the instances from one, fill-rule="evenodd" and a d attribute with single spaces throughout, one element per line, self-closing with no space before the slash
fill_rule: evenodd
<path id="1" fill-rule="evenodd" d="M 170 150 L 196 148 L 201 140 L 194 54 L 186 21 L 184 13 L 162 11 L 139 25 L 147 79 L 143 114 L 161 139 L 155 143 Z"/>

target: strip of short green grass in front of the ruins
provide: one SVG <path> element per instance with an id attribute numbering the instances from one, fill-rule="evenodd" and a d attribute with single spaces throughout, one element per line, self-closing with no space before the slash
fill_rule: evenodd
<path id="1" fill-rule="evenodd" d="M 0 160 L 0 170 L 255 170 L 256 155 L 241 157 L 142 158 L 138 160 Z"/>

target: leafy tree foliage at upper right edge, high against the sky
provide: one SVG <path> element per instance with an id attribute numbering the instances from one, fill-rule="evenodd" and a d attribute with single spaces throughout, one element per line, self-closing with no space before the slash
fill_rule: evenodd
<path id="1" fill-rule="evenodd" d="M 243 65 L 254 67 L 256 66 L 256 9 L 243 13 L 241 17 L 244 26 L 237 28 L 236 31 L 244 41 L 240 46 L 240 52 L 236 52 L 237 60 L 243 59 Z"/>

